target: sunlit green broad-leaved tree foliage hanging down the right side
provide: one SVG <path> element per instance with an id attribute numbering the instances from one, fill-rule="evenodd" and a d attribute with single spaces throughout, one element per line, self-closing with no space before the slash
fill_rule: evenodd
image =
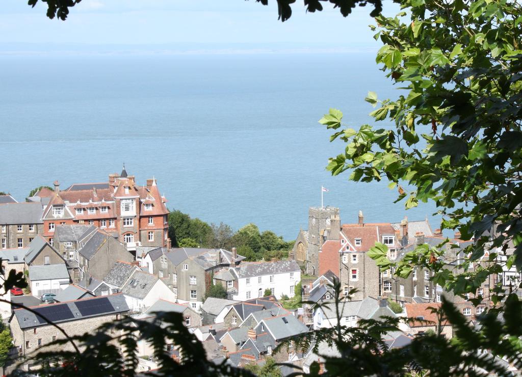
<path id="1" fill-rule="evenodd" d="M 406 93 L 379 100 L 369 92 L 371 115 L 386 122 L 379 129 L 343 128 L 343 114 L 331 109 L 320 123 L 346 147 L 327 168 L 354 181 L 388 180 L 407 209 L 433 200 L 442 229 L 474 237 L 458 273 L 426 245 L 397 266 L 399 276 L 427 267 L 462 295 L 503 266 L 522 271 L 522 8 L 506 0 L 401 5 L 404 13 L 380 15 L 373 28 L 383 43 L 377 63 Z M 491 299 L 504 296 L 499 288 Z"/>

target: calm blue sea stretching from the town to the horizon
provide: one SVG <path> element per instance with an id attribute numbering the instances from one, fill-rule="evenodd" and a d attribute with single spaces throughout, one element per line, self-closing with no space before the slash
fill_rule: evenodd
<path id="1" fill-rule="evenodd" d="M 0 191 L 23 200 L 40 185 L 155 177 L 178 209 L 238 229 L 255 223 L 293 239 L 309 206 L 338 206 L 341 222 L 429 216 L 404 210 L 387 183 L 332 177 L 343 150 L 317 123 L 329 107 L 371 123 L 367 91 L 399 91 L 375 53 L 7 56 L 0 59 Z M 390 126 L 382 124 L 379 126 Z"/>

